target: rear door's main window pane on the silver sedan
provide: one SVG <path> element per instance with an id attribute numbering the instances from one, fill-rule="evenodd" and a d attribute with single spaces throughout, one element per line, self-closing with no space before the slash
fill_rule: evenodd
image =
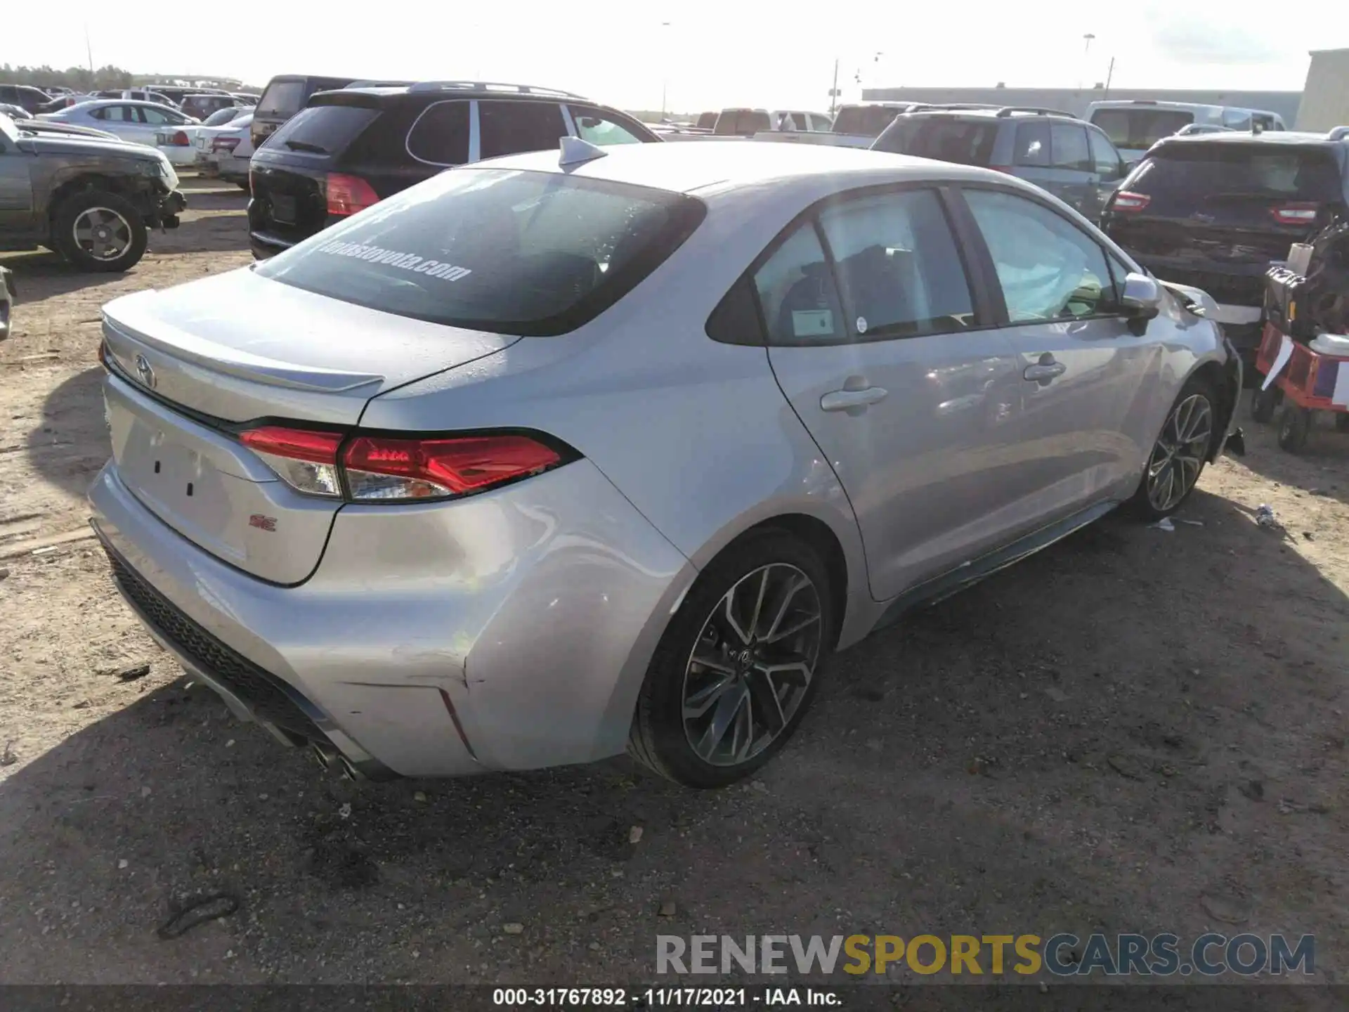
<path id="1" fill-rule="evenodd" d="M 827 208 L 820 225 L 844 320 L 859 337 L 915 337 L 973 322 L 965 267 L 932 190 L 851 200 Z"/>

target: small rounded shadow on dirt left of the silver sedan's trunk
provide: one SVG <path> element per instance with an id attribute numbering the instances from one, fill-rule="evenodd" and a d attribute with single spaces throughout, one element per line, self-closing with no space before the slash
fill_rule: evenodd
<path id="1" fill-rule="evenodd" d="M 47 482 L 84 495 L 94 474 L 112 456 L 103 414 L 103 367 L 78 372 L 53 390 L 42 418 L 28 432 L 28 460 Z"/>

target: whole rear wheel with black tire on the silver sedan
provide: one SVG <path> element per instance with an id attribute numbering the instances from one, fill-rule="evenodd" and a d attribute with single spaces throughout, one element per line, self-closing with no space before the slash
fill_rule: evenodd
<path id="1" fill-rule="evenodd" d="M 768 762 L 796 731 L 819 688 L 834 644 L 830 590 L 819 555 L 784 530 L 754 532 L 728 546 L 697 578 L 656 648 L 633 715 L 629 753 L 654 773 L 697 788 L 726 787 Z M 726 618 L 728 596 L 737 621 Z M 757 626 L 750 621 L 755 596 L 772 602 L 761 609 Z M 781 609 L 780 600 L 786 600 Z M 782 623 L 789 633 L 770 641 Z M 750 642 L 735 629 L 747 630 Z M 697 664 L 695 650 L 726 667 Z M 795 667 L 805 657 L 813 663 Z M 765 665 L 782 669 L 781 675 L 789 671 L 791 677 L 774 680 Z M 687 696 L 704 710 L 688 721 Z M 774 702 L 776 712 L 766 708 Z"/>

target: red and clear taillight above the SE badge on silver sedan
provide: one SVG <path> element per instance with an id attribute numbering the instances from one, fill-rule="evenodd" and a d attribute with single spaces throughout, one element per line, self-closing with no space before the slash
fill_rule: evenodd
<path id="1" fill-rule="evenodd" d="M 345 494 L 353 502 L 468 495 L 564 463 L 557 449 L 519 433 L 420 440 L 357 433 L 348 439 L 340 432 L 264 425 L 239 439 L 295 491 Z"/>

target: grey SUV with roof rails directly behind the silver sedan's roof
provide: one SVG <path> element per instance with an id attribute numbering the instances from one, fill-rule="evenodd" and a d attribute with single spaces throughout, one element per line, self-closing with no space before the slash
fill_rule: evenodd
<path id="1" fill-rule="evenodd" d="M 1129 166 L 1110 139 L 1070 112 L 1006 105 L 897 116 L 873 151 L 997 169 L 1099 221 Z"/>

